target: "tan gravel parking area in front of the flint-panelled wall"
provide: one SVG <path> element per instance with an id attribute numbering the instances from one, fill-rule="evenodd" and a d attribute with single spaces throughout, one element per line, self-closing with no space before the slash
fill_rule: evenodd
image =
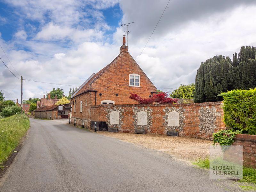
<path id="1" fill-rule="evenodd" d="M 134 143 L 142 147 L 157 149 L 187 162 L 194 162 L 196 159 L 209 156 L 209 147 L 212 145 L 212 141 L 210 140 L 180 136 L 172 137 L 167 135 L 114 133 L 105 131 L 98 131 L 97 133 L 107 137 L 114 137 L 125 142 Z"/>

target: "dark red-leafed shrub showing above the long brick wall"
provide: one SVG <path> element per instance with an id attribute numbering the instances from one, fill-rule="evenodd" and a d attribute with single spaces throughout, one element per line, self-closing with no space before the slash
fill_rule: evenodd
<path id="1" fill-rule="evenodd" d="M 130 99 L 138 101 L 140 104 L 149 104 L 149 103 L 177 103 L 177 99 L 172 99 L 167 96 L 167 93 L 161 92 L 153 95 L 151 98 L 141 98 L 139 95 L 130 93 Z"/>

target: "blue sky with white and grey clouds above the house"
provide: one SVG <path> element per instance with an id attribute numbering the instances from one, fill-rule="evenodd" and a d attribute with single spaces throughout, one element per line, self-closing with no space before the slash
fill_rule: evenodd
<path id="1" fill-rule="evenodd" d="M 158 89 L 195 82 L 200 62 L 232 58 L 256 46 L 255 0 L 0 0 L 0 57 L 24 79 L 23 98 L 42 97 L 53 87 L 68 94 L 120 52 L 129 26 L 129 52 Z M 15 69 L 14 69 L 15 68 Z M 20 100 L 20 79 L 0 64 L 5 99 Z"/>

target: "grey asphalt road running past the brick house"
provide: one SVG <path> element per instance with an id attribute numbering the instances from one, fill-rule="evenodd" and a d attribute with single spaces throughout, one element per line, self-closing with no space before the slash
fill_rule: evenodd
<path id="1" fill-rule="evenodd" d="M 0 181 L 1 192 L 240 190 L 160 151 L 59 121 L 30 120 L 28 139 Z"/>

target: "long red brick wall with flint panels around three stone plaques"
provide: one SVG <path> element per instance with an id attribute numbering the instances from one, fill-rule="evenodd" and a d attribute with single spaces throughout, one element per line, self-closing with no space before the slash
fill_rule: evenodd
<path id="1" fill-rule="evenodd" d="M 189 104 L 127 104 L 98 105 L 91 108 L 92 121 L 106 121 L 108 127 L 118 128 L 119 132 L 134 133 L 135 129 L 145 129 L 147 133 L 166 134 L 179 131 L 181 136 L 212 139 L 212 133 L 225 129 L 221 102 Z M 119 124 L 110 124 L 110 112 L 119 112 Z M 148 114 L 147 125 L 137 125 L 137 114 Z M 168 113 L 179 113 L 179 126 L 168 126 Z M 79 123 L 76 122 L 78 125 Z"/>

